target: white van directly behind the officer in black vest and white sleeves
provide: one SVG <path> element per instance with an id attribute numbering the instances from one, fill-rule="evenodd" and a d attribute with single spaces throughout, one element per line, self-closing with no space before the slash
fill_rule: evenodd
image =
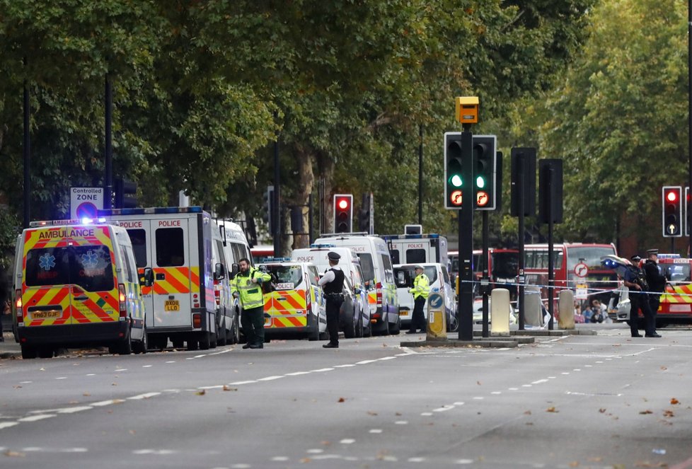
<path id="1" fill-rule="evenodd" d="M 342 330 L 344 337 L 370 337 L 372 334 L 371 313 L 374 313 L 375 304 L 370 306 L 368 300 L 368 291 L 363 279 L 363 271 L 360 265 L 360 260 L 350 248 L 338 247 L 333 244 L 313 244 L 310 248 L 294 249 L 291 254 L 291 260 L 296 262 L 312 262 L 320 274 L 324 274 L 329 269 L 329 260 L 327 254 L 333 252 L 341 256 L 339 267 L 346 274 L 345 288 L 350 292 L 352 297 L 353 319 L 342 318 L 340 321 L 343 325 Z M 350 261 L 350 262 L 349 262 Z M 371 287 L 374 289 L 374 286 Z M 346 301 L 349 303 L 349 301 Z M 350 307 L 344 306 L 347 310 Z"/>

